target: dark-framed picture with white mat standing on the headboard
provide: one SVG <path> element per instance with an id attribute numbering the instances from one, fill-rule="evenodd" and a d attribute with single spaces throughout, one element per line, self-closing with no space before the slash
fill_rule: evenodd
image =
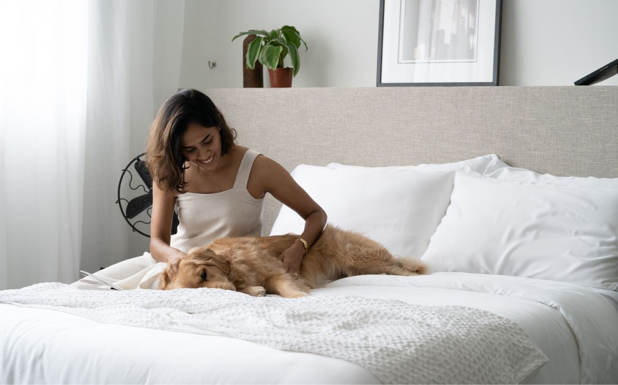
<path id="1" fill-rule="evenodd" d="M 498 85 L 502 0 L 380 0 L 381 86 Z"/>

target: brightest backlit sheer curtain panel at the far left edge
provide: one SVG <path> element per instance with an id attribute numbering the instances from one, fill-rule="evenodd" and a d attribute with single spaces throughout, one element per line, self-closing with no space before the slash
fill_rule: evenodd
<path id="1" fill-rule="evenodd" d="M 3 289 L 70 281 L 79 265 L 87 9 L 79 0 L 1 3 Z"/>

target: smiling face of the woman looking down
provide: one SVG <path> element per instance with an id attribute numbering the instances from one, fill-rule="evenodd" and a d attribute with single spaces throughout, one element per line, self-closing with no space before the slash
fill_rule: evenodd
<path id="1" fill-rule="evenodd" d="M 180 150 L 191 163 L 213 171 L 221 161 L 221 135 L 218 127 L 189 124 L 180 138 Z"/>

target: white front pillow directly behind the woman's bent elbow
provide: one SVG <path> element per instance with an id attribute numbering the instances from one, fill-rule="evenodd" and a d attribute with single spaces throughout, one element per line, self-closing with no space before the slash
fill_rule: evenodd
<path id="1" fill-rule="evenodd" d="M 300 164 L 292 177 L 328 215 L 328 222 L 359 231 L 393 255 L 420 256 L 446 213 L 454 172 Z M 282 206 L 271 235 L 300 234 L 297 213 Z"/>

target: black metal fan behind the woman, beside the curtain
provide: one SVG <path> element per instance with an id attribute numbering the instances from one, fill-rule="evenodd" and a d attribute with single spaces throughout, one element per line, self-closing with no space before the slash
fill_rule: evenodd
<path id="1" fill-rule="evenodd" d="M 118 182 L 118 206 L 122 213 L 122 217 L 127 221 L 133 231 L 150 237 L 150 218 L 153 205 L 153 179 L 150 176 L 148 167 L 142 160 L 144 154 L 139 154 L 132 161 L 124 167 Z M 137 185 L 133 186 L 133 171 L 137 172 L 138 176 L 142 179 L 142 183 L 136 182 Z M 144 192 L 133 198 L 123 198 L 123 193 L 131 194 L 132 192 L 140 193 L 140 190 Z M 124 204 L 124 208 L 123 205 Z M 174 211 L 174 217 L 172 218 L 172 234 L 176 234 L 178 231 L 179 219 L 176 211 Z"/>

